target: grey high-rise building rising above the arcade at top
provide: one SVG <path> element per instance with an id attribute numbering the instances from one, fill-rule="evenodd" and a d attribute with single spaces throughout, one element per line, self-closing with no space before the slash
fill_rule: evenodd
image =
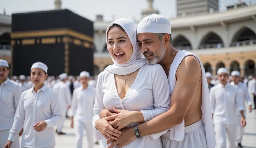
<path id="1" fill-rule="evenodd" d="M 177 0 L 177 16 L 219 10 L 219 0 Z"/>

